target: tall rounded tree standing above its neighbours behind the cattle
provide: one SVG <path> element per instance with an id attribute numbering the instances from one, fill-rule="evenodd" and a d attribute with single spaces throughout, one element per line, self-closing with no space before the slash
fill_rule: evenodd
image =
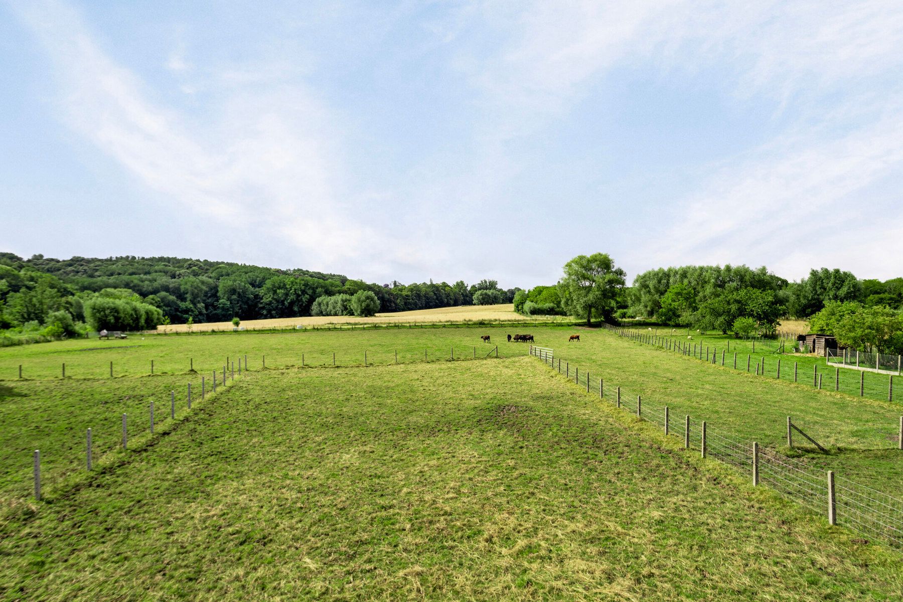
<path id="1" fill-rule="evenodd" d="M 558 281 L 564 310 L 575 318 L 586 316 L 591 326 L 595 313 L 602 320 L 610 318 L 621 289 L 625 273 L 605 253 L 577 255 L 564 264 L 564 275 Z"/>

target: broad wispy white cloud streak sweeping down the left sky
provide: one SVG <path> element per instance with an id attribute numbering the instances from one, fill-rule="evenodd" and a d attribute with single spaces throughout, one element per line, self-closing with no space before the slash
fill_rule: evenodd
<path id="1" fill-rule="evenodd" d="M 62 119 L 169 199 L 171 218 L 188 211 L 201 223 L 247 227 L 270 244 L 293 247 L 305 265 L 358 260 L 384 241 L 342 207 L 333 142 L 340 126 L 303 86 L 241 88 L 237 79 L 252 69 L 230 71 L 223 74 L 230 93 L 212 125 L 202 126 L 150 100 L 143 82 L 101 50 L 69 6 L 17 8 L 55 64 Z M 187 69 L 179 54 L 169 66 Z"/>

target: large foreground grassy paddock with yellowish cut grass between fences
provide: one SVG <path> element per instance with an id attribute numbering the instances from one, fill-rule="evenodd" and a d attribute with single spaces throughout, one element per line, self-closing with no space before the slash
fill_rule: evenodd
<path id="1" fill-rule="evenodd" d="M 255 371 L 7 514 L 0 598 L 903 597 L 897 551 L 676 444 L 526 357 Z"/>

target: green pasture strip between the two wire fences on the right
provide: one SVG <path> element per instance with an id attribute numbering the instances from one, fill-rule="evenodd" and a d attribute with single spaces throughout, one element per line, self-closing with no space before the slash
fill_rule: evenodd
<path id="1" fill-rule="evenodd" d="M 815 468 L 833 469 L 842 477 L 903 497 L 903 451 L 898 449 L 903 403 L 819 391 L 811 383 L 787 382 L 783 374 L 778 381 L 721 367 L 720 361 L 712 366 L 608 331 L 584 330 L 581 335 L 580 343 L 556 347 L 555 356 L 556 366 L 562 361 L 562 370 L 572 377 L 575 369 L 582 372 L 582 386 L 588 371 L 594 392 L 598 393 L 601 378 L 607 395 L 621 387 L 625 405 L 635 406 L 637 395 L 642 395 L 650 411 L 660 413 L 668 406 L 675 425 L 689 414 L 694 421 L 707 421 L 714 433 L 759 441 Z M 767 357 L 767 365 L 769 361 L 777 362 L 777 357 Z M 794 449 L 787 449 L 787 416 L 828 453 L 796 431 Z"/>

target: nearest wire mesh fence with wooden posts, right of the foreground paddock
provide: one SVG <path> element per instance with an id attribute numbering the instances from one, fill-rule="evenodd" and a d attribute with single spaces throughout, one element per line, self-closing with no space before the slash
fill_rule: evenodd
<path id="1" fill-rule="evenodd" d="M 903 546 L 903 500 L 834 477 L 833 471 L 812 468 L 757 442 L 712 431 L 705 421 L 689 415 L 672 416 L 667 405 L 606 383 L 599 375 L 592 375 L 579 366 L 571 366 L 561 357 L 555 358 L 552 349 L 531 347 L 530 355 L 573 379 L 574 384 L 585 387 L 588 394 L 598 395 L 600 400 L 658 425 L 666 435 L 682 438 L 684 449 L 699 449 L 703 457 L 747 472 L 753 485 L 767 485 L 815 513 L 826 514 L 831 524 L 842 524 L 868 537 Z M 903 431 L 903 420 L 900 425 Z"/>

